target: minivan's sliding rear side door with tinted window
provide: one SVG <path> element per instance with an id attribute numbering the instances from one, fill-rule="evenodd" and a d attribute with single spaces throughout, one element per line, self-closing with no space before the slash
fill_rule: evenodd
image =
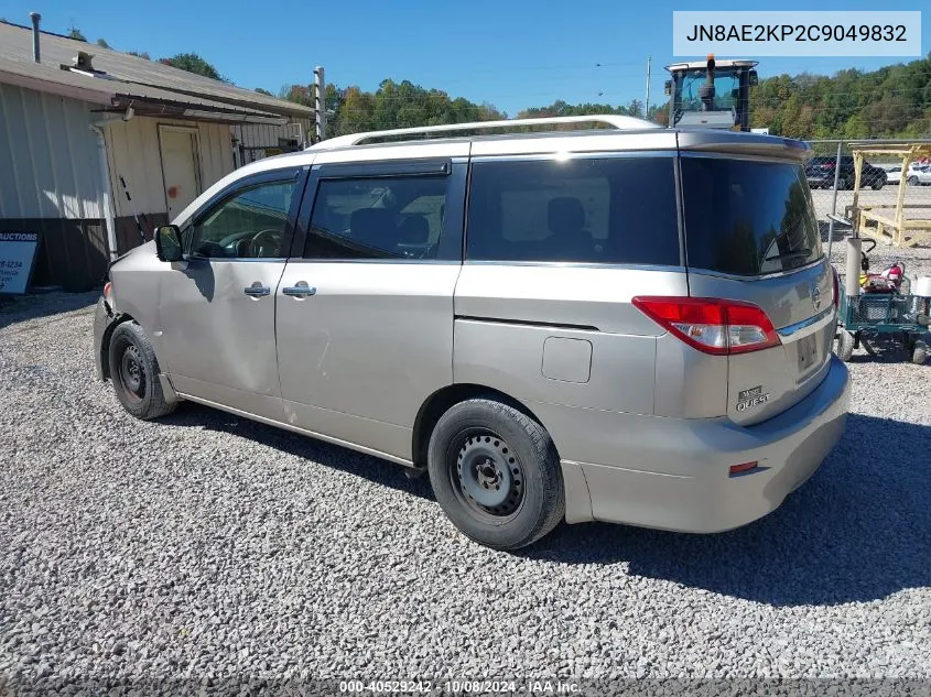
<path id="1" fill-rule="evenodd" d="M 277 298 L 288 422 L 403 459 L 421 405 L 453 380 L 465 165 L 431 166 L 318 171 Z"/>

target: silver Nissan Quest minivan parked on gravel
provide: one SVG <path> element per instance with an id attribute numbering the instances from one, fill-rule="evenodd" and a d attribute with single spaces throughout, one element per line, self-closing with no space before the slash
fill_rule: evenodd
<path id="1" fill-rule="evenodd" d="M 112 263 L 98 377 L 140 418 L 190 400 L 429 472 L 496 548 L 744 525 L 849 400 L 806 151 L 606 116 L 261 160 Z"/>

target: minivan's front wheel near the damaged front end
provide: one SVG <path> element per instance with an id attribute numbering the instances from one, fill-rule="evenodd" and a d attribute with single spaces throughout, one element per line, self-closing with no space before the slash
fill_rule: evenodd
<path id="1" fill-rule="evenodd" d="M 125 322 L 113 329 L 109 362 L 113 390 L 130 414 L 148 421 L 175 410 L 176 402 L 165 401 L 155 351 L 138 324 Z"/>

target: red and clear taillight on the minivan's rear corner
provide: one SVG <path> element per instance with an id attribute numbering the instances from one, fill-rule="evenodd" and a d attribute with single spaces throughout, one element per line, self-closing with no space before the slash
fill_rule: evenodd
<path id="1" fill-rule="evenodd" d="M 705 353 L 726 356 L 779 346 L 779 336 L 756 305 L 716 297 L 638 296 L 634 306 Z"/>

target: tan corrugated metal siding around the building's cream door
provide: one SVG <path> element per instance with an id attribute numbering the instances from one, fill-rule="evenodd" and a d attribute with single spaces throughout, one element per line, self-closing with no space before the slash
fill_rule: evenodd
<path id="1" fill-rule="evenodd" d="M 159 149 L 159 126 L 180 126 L 197 130 L 201 190 L 232 172 L 232 142 L 229 126 L 195 123 L 177 119 L 136 117 L 129 121 L 115 121 L 107 127 L 107 157 L 111 187 L 116 199 L 115 215 L 167 213 Z M 132 196 L 126 199 L 119 177 Z"/>

